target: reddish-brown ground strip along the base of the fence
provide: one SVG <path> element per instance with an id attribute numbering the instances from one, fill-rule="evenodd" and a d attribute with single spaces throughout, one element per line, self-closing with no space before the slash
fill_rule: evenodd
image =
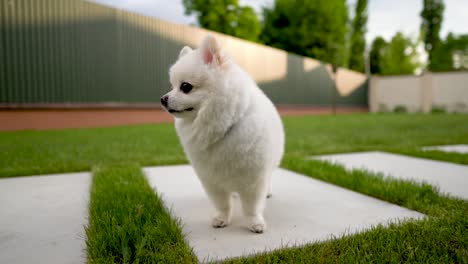
<path id="1" fill-rule="evenodd" d="M 367 112 L 367 108 L 338 108 L 338 114 Z M 282 116 L 332 114 L 330 108 L 279 107 Z M 0 110 L 0 131 L 109 127 L 171 123 L 161 109 L 38 109 Z"/>

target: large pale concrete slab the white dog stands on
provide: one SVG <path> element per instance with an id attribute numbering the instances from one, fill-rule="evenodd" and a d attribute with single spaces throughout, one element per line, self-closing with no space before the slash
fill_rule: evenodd
<path id="1" fill-rule="evenodd" d="M 210 226 L 214 209 L 190 166 L 144 169 L 174 216 L 200 261 L 220 260 L 323 241 L 352 234 L 379 223 L 422 214 L 349 191 L 291 171 L 279 169 L 273 175 L 273 197 L 267 202 L 268 230 L 253 234 L 241 217 L 235 199 L 230 226 Z"/>

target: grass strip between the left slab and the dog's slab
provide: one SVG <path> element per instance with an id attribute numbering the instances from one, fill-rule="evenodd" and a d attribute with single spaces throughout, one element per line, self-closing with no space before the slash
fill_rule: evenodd
<path id="1" fill-rule="evenodd" d="M 94 168 L 86 235 L 89 263 L 197 261 L 137 165 Z"/>

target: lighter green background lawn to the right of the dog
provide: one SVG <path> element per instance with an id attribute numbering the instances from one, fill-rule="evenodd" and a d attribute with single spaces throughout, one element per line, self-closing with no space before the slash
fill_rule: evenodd
<path id="1" fill-rule="evenodd" d="M 421 146 L 468 144 L 468 115 L 355 114 L 284 120 L 286 153 L 308 156 L 384 150 L 424 155 Z M 468 164 L 468 155 L 458 161 Z M 440 158 L 441 156 L 439 156 Z"/>

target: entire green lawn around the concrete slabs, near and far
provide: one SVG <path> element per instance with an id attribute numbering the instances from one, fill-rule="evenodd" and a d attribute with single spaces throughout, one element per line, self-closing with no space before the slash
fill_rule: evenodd
<path id="1" fill-rule="evenodd" d="M 468 144 L 468 115 L 353 114 L 284 119 L 282 166 L 429 217 L 231 262 L 468 263 L 468 203 L 431 186 L 347 172 L 310 155 L 384 150 L 468 164 L 467 154 L 421 146 Z M 0 177 L 93 170 L 88 260 L 196 262 L 140 166 L 186 163 L 172 125 L 0 133 Z"/>

